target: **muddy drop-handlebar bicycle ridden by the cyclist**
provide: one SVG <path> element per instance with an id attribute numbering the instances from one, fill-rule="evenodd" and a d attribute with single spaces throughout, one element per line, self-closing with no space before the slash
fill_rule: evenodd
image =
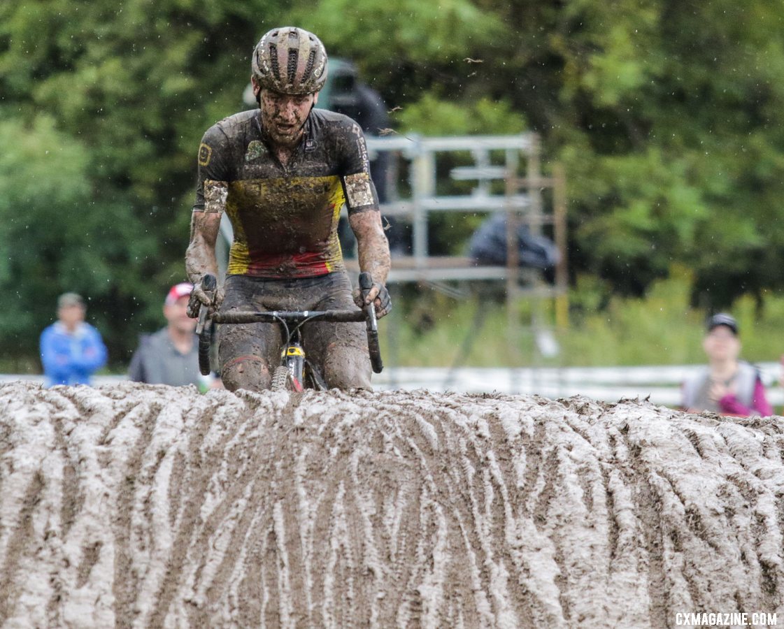
<path id="1" fill-rule="evenodd" d="M 211 293 L 217 287 L 216 278 L 205 275 L 201 281 L 205 292 Z M 363 295 L 367 295 L 372 287 L 369 273 L 360 273 L 359 287 Z M 210 373 L 210 347 L 214 336 L 216 324 L 253 324 L 253 323 L 278 323 L 281 325 L 283 338 L 281 350 L 281 364 L 275 368 L 272 375 L 271 389 L 291 390 L 301 392 L 303 389 L 316 389 L 325 391 L 326 382 L 318 371 L 318 367 L 307 360 L 302 342 L 302 326 L 313 320 L 331 321 L 334 323 L 349 323 L 365 321 L 368 334 L 368 352 L 374 373 L 380 374 L 383 370 L 381 349 L 379 348 L 379 330 L 376 320 L 376 308 L 368 304 L 361 310 L 272 310 L 235 311 L 231 313 L 212 313 L 201 305 L 198 315 L 198 361 L 201 374 Z"/>

